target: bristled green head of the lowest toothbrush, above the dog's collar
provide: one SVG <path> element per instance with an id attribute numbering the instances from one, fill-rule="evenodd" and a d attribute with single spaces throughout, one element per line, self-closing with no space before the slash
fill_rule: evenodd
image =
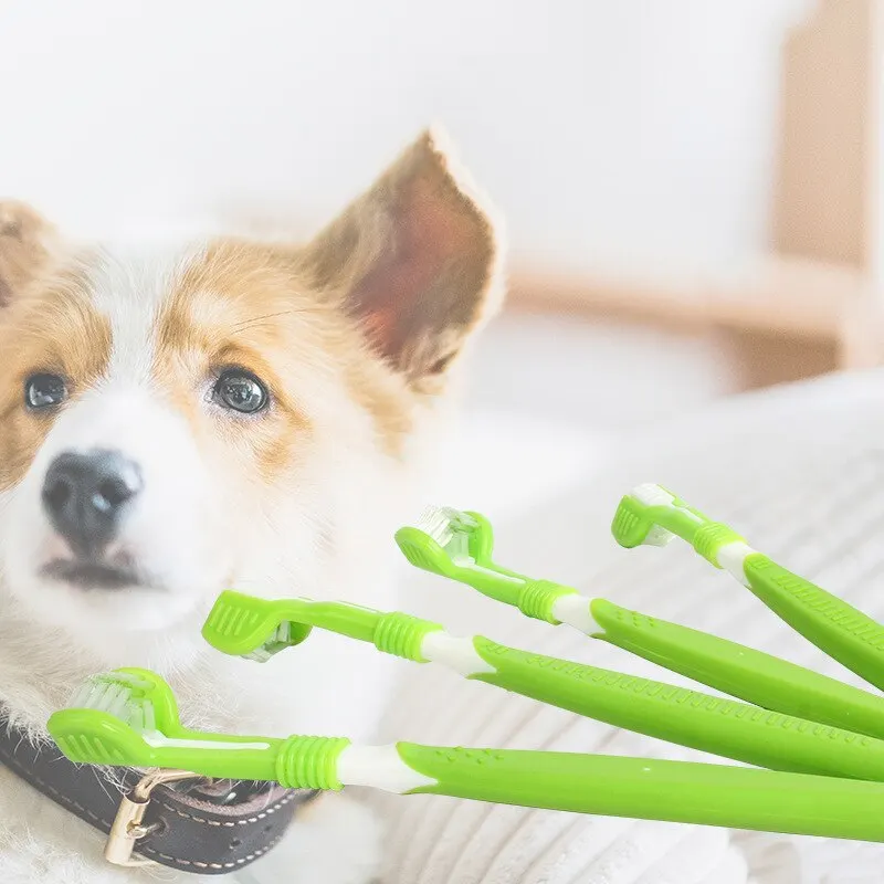
<path id="1" fill-rule="evenodd" d="M 181 730 L 171 688 L 137 669 L 93 675 L 48 726 L 72 761 L 131 767 L 159 766 L 151 744 Z"/>

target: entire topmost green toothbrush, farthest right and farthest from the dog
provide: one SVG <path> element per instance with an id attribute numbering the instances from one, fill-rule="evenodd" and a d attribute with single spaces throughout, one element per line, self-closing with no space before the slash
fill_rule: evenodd
<path id="1" fill-rule="evenodd" d="M 686 540 L 730 573 L 774 613 L 877 688 L 884 688 L 884 627 L 836 596 L 756 551 L 727 525 L 713 522 L 660 485 L 640 485 L 620 502 L 612 530 L 624 547 Z"/>

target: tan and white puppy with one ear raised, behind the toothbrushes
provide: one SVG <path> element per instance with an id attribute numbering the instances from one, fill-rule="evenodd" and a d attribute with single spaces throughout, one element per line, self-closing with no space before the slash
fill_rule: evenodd
<path id="1" fill-rule="evenodd" d="M 499 223 L 434 130 L 306 245 L 92 245 L 0 203 L 10 723 L 44 738 L 86 676 L 136 665 L 193 727 L 370 739 L 390 685 L 373 649 L 315 634 L 259 666 L 200 627 L 229 587 L 396 607 L 391 535 L 502 296 Z M 287 839 L 288 884 L 365 884 L 378 860 L 375 821 L 341 796 Z M 143 874 L 101 851 L 0 768 L 3 884 Z"/>

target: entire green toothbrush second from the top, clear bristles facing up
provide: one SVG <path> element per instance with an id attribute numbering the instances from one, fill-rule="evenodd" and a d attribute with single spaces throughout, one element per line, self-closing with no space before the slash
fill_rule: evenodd
<path id="1" fill-rule="evenodd" d="M 615 535 L 628 539 L 630 535 L 618 533 L 618 524 L 628 525 L 625 517 L 615 519 Z M 650 541 L 660 537 L 649 528 Z M 882 697 L 746 645 L 496 565 L 492 526 L 477 513 L 430 507 L 415 526 L 400 528 L 396 540 L 412 565 L 466 583 L 528 617 L 567 623 L 766 709 L 884 739 Z"/>

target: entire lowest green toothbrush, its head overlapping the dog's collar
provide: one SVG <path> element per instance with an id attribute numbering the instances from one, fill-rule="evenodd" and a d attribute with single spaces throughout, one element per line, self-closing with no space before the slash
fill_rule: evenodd
<path id="1" fill-rule="evenodd" d="M 884 841 L 881 783 L 618 756 L 208 734 L 181 726 L 171 688 L 146 670 L 94 676 L 51 716 L 49 732 L 77 764 Z"/>

